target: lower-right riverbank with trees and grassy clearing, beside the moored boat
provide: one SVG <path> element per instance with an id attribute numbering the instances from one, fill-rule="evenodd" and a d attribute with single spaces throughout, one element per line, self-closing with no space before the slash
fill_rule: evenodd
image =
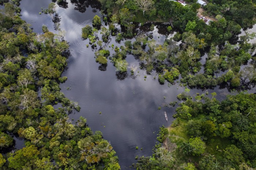
<path id="1" fill-rule="evenodd" d="M 255 120 L 253 118 L 255 113 L 248 117 L 252 113 L 251 107 L 255 107 L 252 104 L 256 103 L 255 98 L 255 94 L 240 92 L 228 95 L 221 102 L 212 97 L 211 99 L 205 98 L 205 103 L 188 99 L 180 104 L 180 107 L 176 109 L 175 117 L 177 119 L 167 128 L 169 133 L 163 141 L 163 147 L 172 153 L 175 160 L 173 168 L 183 169 L 188 164 L 197 169 L 212 169 L 215 166 L 218 166 L 219 169 L 255 168 L 256 164 L 253 160 L 256 152 L 248 150 L 255 147 L 255 143 L 250 142 L 253 138 L 251 135 L 255 135 L 255 133 L 249 135 L 251 128 L 242 131 L 241 128 L 245 124 L 237 124 L 240 119 L 246 119 L 249 122 Z M 240 108 L 242 106 L 231 108 L 226 105 L 226 103 L 238 104 L 245 100 L 252 103 L 247 102 L 244 111 Z M 209 104 L 218 105 L 219 113 L 216 114 L 216 111 L 212 109 L 208 110 Z M 180 112 L 182 110 L 182 114 L 184 114 L 186 107 L 192 115 L 188 119 L 182 118 Z M 240 112 L 240 114 L 237 115 L 234 111 Z M 214 112 L 215 114 L 213 114 Z M 237 118 L 232 119 L 233 116 Z M 248 138 L 247 135 L 249 135 Z"/>

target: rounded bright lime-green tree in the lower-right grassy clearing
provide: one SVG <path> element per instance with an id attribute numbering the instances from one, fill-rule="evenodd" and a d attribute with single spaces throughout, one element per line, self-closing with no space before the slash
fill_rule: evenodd
<path id="1" fill-rule="evenodd" d="M 205 143 L 199 137 L 190 138 L 189 146 L 191 148 L 192 155 L 201 155 L 206 149 Z"/>

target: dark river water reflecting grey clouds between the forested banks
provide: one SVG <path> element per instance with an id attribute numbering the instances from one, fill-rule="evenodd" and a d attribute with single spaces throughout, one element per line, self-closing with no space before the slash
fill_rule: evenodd
<path id="1" fill-rule="evenodd" d="M 52 16 L 44 13 L 39 15 L 41 8 L 47 8 L 50 2 L 50 0 L 20 1 L 22 19 L 30 23 L 36 33 L 42 33 L 43 24 L 48 26 L 49 31 L 57 33 L 54 30 Z M 99 70 L 99 64 L 94 58 L 95 50 L 90 46 L 86 47 L 86 44 L 89 44 L 88 39 L 81 39 L 81 28 L 87 24 L 91 25 L 95 15 L 101 16 L 97 1 L 67 0 L 67 4 L 56 6 L 56 11 L 61 18 L 60 28 L 65 31 L 64 39 L 69 42 L 71 51 L 68 68 L 63 73 L 68 80 L 60 85 L 61 91 L 67 98 L 78 102 L 81 106 L 80 112 L 69 115 L 70 119 L 74 119 L 75 122 L 80 116 L 84 116 L 93 131 L 102 131 L 104 139 L 110 141 L 116 151 L 122 169 L 136 162 L 136 155 L 151 155 L 159 126 L 170 126 L 173 120 L 175 109 L 163 106 L 165 103 L 176 101 L 176 96 L 183 92 L 185 87 L 180 87 L 179 83 L 172 86 L 168 86 L 168 83 L 160 85 L 157 78 L 154 79 L 155 72 L 147 75 L 146 71 L 140 70 L 139 67 L 136 76 L 131 76 L 129 71 L 127 75 L 116 74 L 116 68 L 110 60 L 106 71 Z M 166 36 L 173 35 L 166 34 L 163 31 L 165 27 L 163 24 L 158 24 L 153 31 L 154 39 L 159 44 L 163 43 Z M 148 27 L 138 27 L 137 31 L 139 33 L 145 29 Z M 112 37 L 108 44 L 103 43 L 111 54 L 114 50 L 109 46 L 112 44 L 120 47 L 123 42 L 118 44 L 115 42 L 115 37 Z M 128 55 L 126 60 L 129 64 L 139 66 L 139 62 L 132 55 Z M 206 58 L 202 57 L 203 63 L 205 60 Z M 146 81 L 144 76 L 147 76 Z M 67 87 L 70 90 L 67 90 Z M 217 92 L 219 99 L 229 94 L 226 88 L 219 87 L 207 91 L 209 94 Z M 249 92 L 252 91 L 254 90 Z M 197 92 L 201 94 L 206 91 L 192 89 L 190 94 L 194 95 Z M 158 110 L 159 106 L 162 107 L 161 110 Z M 102 114 L 99 114 L 100 111 Z M 167 112 L 168 122 L 165 120 L 164 111 Z M 16 148 L 23 147 L 20 142 L 17 143 Z M 135 149 L 136 146 L 139 147 L 138 150 Z"/>

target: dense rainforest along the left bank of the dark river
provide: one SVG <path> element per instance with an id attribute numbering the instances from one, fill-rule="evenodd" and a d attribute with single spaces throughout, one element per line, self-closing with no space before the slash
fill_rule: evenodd
<path id="1" fill-rule="evenodd" d="M 68 43 L 45 27 L 33 33 L 18 3 L 5 3 L 0 13 L 0 169 L 120 169 L 100 131 L 93 133 L 83 117 L 68 119 L 80 110 L 59 87 L 67 80 L 61 73 Z M 25 147 L 12 151 L 13 136 Z"/>

